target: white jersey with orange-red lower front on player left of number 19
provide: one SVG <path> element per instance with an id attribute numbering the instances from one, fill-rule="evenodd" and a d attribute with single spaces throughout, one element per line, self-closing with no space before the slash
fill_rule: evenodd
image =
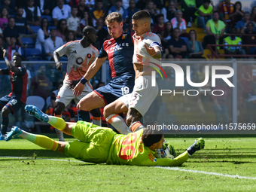
<path id="1" fill-rule="evenodd" d="M 69 61 L 67 72 L 63 82 L 80 80 L 84 77 L 89 66 L 99 55 L 99 50 L 90 44 L 89 47 L 83 47 L 81 40 L 69 41 L 56 50 L 59 56 L 67 54 Z"/>

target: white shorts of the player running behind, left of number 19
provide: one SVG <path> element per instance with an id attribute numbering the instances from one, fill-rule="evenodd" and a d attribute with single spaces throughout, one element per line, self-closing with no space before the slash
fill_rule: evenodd
<path id="1" fill-rule="evenodd" d="M 69 83 L 65 82 L 62 87 L 59 90 L 58 96 L 56 97 L 55 102 L 62 102 L 64 105 L 69 105 L 69 102 L 74 99 L 75 103 L 78 104 L 78 102 L 86 96 L 88 93 L 91 93 L 93 91 L 93 87 L 90 85 L 90 83 L 86 83 L 84 86 L 83 93 L 81 93 L 80 96 L 74 96 L 73 90 L 69 89 Z"/>

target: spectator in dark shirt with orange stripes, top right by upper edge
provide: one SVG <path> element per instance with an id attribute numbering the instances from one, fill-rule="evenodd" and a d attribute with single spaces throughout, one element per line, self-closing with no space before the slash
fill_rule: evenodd
<path id="1" fill-rule="evenodd" d="M 234 5 L 230 2 L 230 0 L 224 0 L 221 5 L 218 7 L 218 11 L 220 13 L 221 20 L 226 25 L 226 32 L 230 32 L 231 24 L 233 24 L 232 14 L 234 12 Z"/>

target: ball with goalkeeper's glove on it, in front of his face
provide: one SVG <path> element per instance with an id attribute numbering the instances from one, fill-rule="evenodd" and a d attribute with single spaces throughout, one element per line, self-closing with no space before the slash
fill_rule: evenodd
<path id="1" fill-rule="evenodd" d="M 157 158 L 175 158 L 175 149 L 168 142 L 163 142 L 163 148 L 156 149 L 156 153 L 154 155 Z"/>

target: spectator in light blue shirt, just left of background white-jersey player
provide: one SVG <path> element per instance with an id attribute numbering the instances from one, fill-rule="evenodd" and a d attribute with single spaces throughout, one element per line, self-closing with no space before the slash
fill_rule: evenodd
<path id="1" fill-rule="evenodd" d="M 56 36 L 56 29 L 54 29 L 54 28 L 50 29 L 50 37 L 47 38 L 44 42 L 44 50 L 46 53 L 46 59 L 48 61 L 53 61 L 54 50 L 61 47 L 63 44 L 64 43 L 63 43 L 62 38 L 59 38 Z"/>

